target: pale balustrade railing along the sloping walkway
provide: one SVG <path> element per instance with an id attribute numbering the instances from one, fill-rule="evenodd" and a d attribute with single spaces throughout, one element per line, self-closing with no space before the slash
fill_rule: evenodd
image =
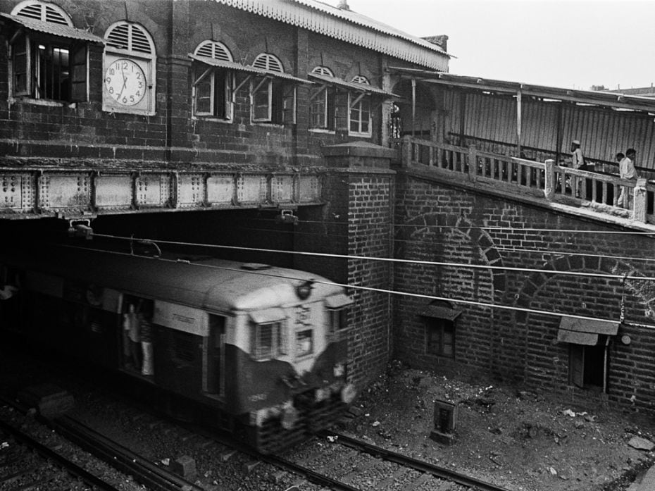
<path id="1" fill-rule="evenodd" d="M 406 168 L 433 169 L 471 182 L 497 186 L 513 194 L 530 194 L 568 204 L 594 203 L 597 210 L 628 209 L 633 220 L 655 223 L 655 183 L 625 180 L 618 175 L 556 166 L 554 160 L 536 162 L 404 137 L 402 164 Z M 622 195 L 622 190 L 625 193 Z M 616 211 L 615 211 L 616 212 Z"/>

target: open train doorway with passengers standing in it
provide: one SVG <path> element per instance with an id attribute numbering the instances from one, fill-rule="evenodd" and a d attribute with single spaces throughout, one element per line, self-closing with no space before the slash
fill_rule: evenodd
<path id="1" fill-rule="evenodd" d="M 125 368 L 142 375 L 154 375 L 151 317 L 152 301 L 144 299 L 127 304 L 123 314 Z"/>

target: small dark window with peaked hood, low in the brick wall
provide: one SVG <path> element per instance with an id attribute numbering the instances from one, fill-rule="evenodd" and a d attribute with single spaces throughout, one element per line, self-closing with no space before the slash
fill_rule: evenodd
<path id="1" fill-rule="evenodd" d="M 460 314 L 444 300 L 435 300 L 420 312 L 425 318 L 425 354 L 455 357 L 455 321 Z"/>

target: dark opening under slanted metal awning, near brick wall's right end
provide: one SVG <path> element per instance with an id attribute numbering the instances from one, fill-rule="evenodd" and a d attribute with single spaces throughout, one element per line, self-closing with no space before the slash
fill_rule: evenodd
<path id="1" fill-rule="evenodd" d="M 568 383 L 607 392 L 609 343 L 618 323 L 563 317 L 557 341 L 569 344 Z"/>

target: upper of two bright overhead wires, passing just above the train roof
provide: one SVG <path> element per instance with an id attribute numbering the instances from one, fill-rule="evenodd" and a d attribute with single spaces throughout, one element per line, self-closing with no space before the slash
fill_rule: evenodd
<path id="1" fill-rule="evenodd" d="M 388 257 L 371 257 L 371 256 L 356 256 L 351 254 L 330 254 L 327 252 L 311 252 L 311 251 L 285 251 L 282 249 L 266 249 L 263 247 L 240 247 L 240 246 L 229 246 L 223 244 L 196 244 L 194 242 L 177 242 L 171 240 L 152 240 L 152 239 L 137 239 L 135 237 L 121 237 L 119 235 L 106 235 L 106 234 L 95 234 L 96 237 L 105 237 L 108 239 L 118 239 L 118 240 L 135 240 L 139 241 L 149 241 L 149 242 L 159 242 L 161 244 L 170 244 L 170 245 L 182 245 L 187 247 L 206 247 L 208 249 L 232 249 L 237 251 L 249 251 L 249 252 L 271 252 L 275 254 L 295 254 L 298 256 L 314 256 L 314 257 L 328 257 L 335 259 L 358 259 L 366 261 L 381 261 L 381 262 L 390 262 L 390 263 L 405 263 L 405 264 L 416 264 L 424 266 L 448 266 L 454 268 L 470 268 L 470 269 L 493 269 L 499 271 L 519 271 L 521 273 L 552 273 L 565 276 L 582 276 L 586 278 L 610 278 L 614 280 L 642 280 L 642 281 L 655 281 L 655 277 L 650 276 L 626 276 L 626 275 L 611 275 L 607 273 L 583 273 L 579 271 L 558 271 L 553 269 L 538 269 L 538 268 L 515 268 L 513 266 L 492 266 L 487 264 L 466 264 L 466 263 L 449 263 L 445 261 L 423 261 L 418 259 L 399 259 L 399 258 L 388 258 Z"/>

